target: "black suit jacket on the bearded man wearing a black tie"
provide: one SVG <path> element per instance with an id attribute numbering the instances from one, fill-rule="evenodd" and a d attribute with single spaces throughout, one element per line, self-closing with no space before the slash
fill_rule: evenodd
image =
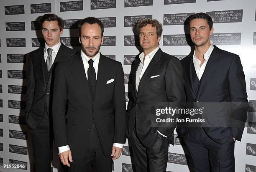
<path id="1" fill-rule="evenodd" d="M 107 84 L 110 79 L 114 81 Z M 93 139 L 91 129 L 94 127 L 107 157 L 114 142 L 126 141 L 124 74 L 118 61 L 100 54 L 93 100 L 81 55 L 58 63 L 53 106 L 56 146 L 69 145 L 73 157 L 83 156 L 81 149 L 86 149 Z"/>

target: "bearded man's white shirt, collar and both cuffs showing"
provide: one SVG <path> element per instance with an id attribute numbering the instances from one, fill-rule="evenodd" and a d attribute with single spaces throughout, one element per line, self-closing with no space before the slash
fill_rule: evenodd
<path id="1" fill-rule="evenodd" d="M 82 61 L 83 61 L 83 64 L 84 64 L 84 71 L 85 71 L 85 74 L 86 74 L 86 78 L 88 78 L 88 74 L 87 74 L 87 71 L 88 71 L 88 68 L 89 68 L 89 63 L 88 61 L 91 59 L 89 57 L 87 57 L 83 51 L 81 51 L 81 57 L 82 57 Z M 96 73 L 96 79 L 97 79 L 97 74 L 98 74 L 98 67 L 99 67 L 99 60 L 100 60 L 100 52 L 97 53 L 97 55 L 92 58 L 93 60 L 93 67 L 95 69 L 95 73 Z M 113 146 L 114 147 L 119 147 L 119 148 L 123 148 L 123 144 L 122 143 L 113 143 Z M 62 147 L 58 147 L 59 149 L 59 154 L 62 153 L 62 152 L 65 152 L 67 150 L 70 149 L 70 147 L 68 145 L 66 146 L 62 146 Z"/>

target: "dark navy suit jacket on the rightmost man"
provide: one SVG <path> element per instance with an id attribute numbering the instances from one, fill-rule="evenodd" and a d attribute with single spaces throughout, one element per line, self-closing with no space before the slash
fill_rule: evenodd
<path id="1" fill-rule="evenodd" d="M 182 59 L 181 63 L 187 102 L 211 103 L 206 103 L 206 122 L 202 123 L 208 136 L 220 144 L 232 137 L 241 141 L 247 119 L 248 100 L 239 56 L 214 46 L 198 90 L 195 89 L 192 79 L 192 73 L 195 73 L 193 53 Z"/>

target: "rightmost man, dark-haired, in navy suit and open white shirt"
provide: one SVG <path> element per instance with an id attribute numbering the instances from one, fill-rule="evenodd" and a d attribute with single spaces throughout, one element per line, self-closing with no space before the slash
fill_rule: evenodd
<path id="1" fill-rule="evenodd" d="M 212 46 L 209 15 L 197 13 L 188 22 L 195 51 L 181 61 L 186 98 L 205 105 L 205 122 L 198 127 L 189 124 L 184 132 L 187 147 L 196 172 L 234 172 L 234 144 L 241 141 L 248 108 L 241 61 L 238 55 Z"/>

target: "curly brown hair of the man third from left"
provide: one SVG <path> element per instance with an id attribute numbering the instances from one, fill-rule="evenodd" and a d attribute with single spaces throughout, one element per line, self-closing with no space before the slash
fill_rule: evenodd
<path id="1" fill-rule="evenodd" d="M 152 27 L 156 27 L 156 34 L 157 34 L 158 37 L 161 37 L 162 32 L 163 32 L 163 26 L 156 19 L 154 19 L 154 20 L 147 19 L 147 20 L 139 21 L 138 24 L 137 24 L 137 27 L 136 27 L 138 33 L 140 33 L 141 32 L 141 28 L 145 27 L 146 25 L 152 25 Z"/>

